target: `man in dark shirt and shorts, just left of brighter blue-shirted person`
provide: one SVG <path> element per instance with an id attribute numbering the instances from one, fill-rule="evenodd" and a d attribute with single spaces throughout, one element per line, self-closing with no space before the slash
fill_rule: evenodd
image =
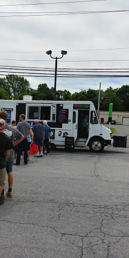
<path id="1" fill-rule="evenodd" d="M 41 155 L 39 155 L 39 151 L 36 153 L 36 156 L 34 157 L 43 157 L 43 140 L 44 140 L 44 127 L 41 123 L 38 122 L 38 119 L 34 120 L 35 125 L 32 128 L 33 134 L 34 134 L 34 144 L 40 145 L 40 151 L 41 151 Z"/>

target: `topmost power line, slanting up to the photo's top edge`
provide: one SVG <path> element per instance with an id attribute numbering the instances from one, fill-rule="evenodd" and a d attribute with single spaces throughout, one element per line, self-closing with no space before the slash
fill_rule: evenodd
<path id="1" fill-rule="evenodd" d="M 6 6 L 36 6 L 36 5 L 53 5 L 53 4 L 73 4 L 73 3 L 83 3 L 83 2 L 100 2 L 100 1 L 107 1 L 107 0 L 87 0 L 87 1 L 69 1 L 69 2 L 56 2 L 56 3 L 39 3 L 39 4 L 18 4 L 18 5 L 0 5 L 1 7 Z"/>

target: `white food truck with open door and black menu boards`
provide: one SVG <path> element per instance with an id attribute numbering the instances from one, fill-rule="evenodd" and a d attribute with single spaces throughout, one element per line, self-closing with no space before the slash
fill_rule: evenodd
<path id="1" fill-rule="evenodd" d="M 36 118 L 41 123 L 47 120 L 53 132 L 51 148 L 64 146 L 66 137 L 73 137 L 75 147 L 89 146 L 93 152 L 113 143 L 111 131 L 99 123 L 91 101 L 0 100 L 0 110 L 7 111 L 8 124 L 18 122 L 20 114 L 26 115 L 31 127 Z"/>

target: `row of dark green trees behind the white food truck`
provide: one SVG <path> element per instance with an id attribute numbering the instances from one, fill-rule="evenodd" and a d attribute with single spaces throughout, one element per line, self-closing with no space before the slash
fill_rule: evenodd
<path id="1" fill-rule="evenodd" d="M 31 95 L 33 100 L 53 100 L 54 87 L 48 88 L 47 84 L 39 84 L 37 90 L 30 87 L 29 81 L 24 77 L 17 75 L 8 75 L 0 78 L 0 99 L 23 99 L 23 95 Z M 81 90 L 71 94 L 67 90 L 56 91 L 56 100 L 90 100 L 94 103 L 96 109 L 98 106 L 99 90 Z M 108 110 L 109 102 L 113 103 L 115 111 L 129 111 L 129 85 L 123 85 L 120 88 L 107 88 L 101 90 L 100 110 Z"/>

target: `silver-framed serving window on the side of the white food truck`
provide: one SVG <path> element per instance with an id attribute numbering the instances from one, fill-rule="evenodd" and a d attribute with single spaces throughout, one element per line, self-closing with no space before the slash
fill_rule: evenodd
<path id="1" fill-rule="evenodd" d="M 28 106 L 28 119 L 50 120 L 51 106 Z"/>

